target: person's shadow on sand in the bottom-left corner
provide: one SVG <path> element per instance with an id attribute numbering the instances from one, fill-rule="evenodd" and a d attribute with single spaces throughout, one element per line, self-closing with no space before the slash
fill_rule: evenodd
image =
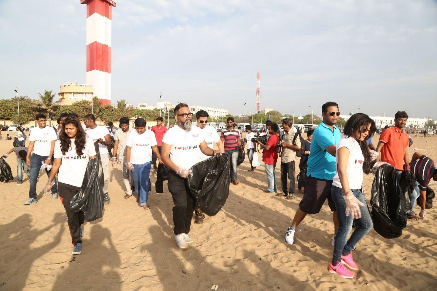
<path id="1" fill-rule="evenodd" d="M 37 229 L 32 226 L 31 216 L 23 214 L 11 223 L 0 226 L 0 245 L 3 253 L 0 258 L 0 266 L 3 270 L 0 273 L 0 289 L 22 290 L 25 287 L 34 260 L 43 257 L 60 243 L 64 231 L 63 222 L 64 214 L 56 213 L 52 225 Z M 38 236 L 57 225 L 59 230 L 52 237 L 51 242 L 31 247 Z M 21 243 L 23 241 L 25 243 Z M 17 266 L 19 266 L 18 270 Z"/>

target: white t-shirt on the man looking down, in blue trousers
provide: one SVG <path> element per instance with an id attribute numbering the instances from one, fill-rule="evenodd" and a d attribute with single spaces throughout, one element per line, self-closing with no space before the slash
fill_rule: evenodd
<path id="1" fill-rule="evenodd" d="M 152 130 L 145 130 L 143 134 L 132 130 L 126 140 L 126 146 L 132 147 L 130 162 L 139 165 L 152 161 L 152 147 L 156 145 L 156 137 Z"/>

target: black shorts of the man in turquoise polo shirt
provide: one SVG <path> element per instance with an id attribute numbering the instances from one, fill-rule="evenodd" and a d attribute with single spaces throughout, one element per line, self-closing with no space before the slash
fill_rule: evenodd
<path id="1" fill-rule="evenodd" d="M 303 198 L 299 203 L 299 209 L 308 214 L 319 213 L 327 198 L 331 211 L 336 211 L 331 195 L 331 187 L 332 180 L 313 178 L 310 175 L 305 182 Z"/>

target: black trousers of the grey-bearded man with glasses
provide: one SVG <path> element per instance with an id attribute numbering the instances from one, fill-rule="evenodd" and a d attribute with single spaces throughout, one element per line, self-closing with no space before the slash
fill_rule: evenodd
<path id="1" fill-rule="evenodd" d="M 186 180 L 173 171 L 169 172 L 167 184 L 174 203 L 174 234 L 189 233 L 195 198 L 188 189 Z"/>

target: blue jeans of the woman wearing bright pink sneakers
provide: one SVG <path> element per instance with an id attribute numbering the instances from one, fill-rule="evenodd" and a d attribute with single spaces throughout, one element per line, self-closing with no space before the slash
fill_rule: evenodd
<path id="1" fill-rule="evenodd" d="M 361 190 L 352 190 L 352 192 L 359 201 L 364 203 L 364 206 L 360 206 L 361 218 L 357 219 L 358 227 L 354 230 L 349 240 L 347 240 L 347 236 L 352 229 L 354 218 L 350 215 L 346 216 L 346 202 L 343 199 L 343 189 L 334 185 L 331 188 L 332 199 L 334 200 L 337 209 L 339 223 L 337 236 L 335 238 L 332 263 L 340 262 L 341 255 L 348 255 L 351 250 L 355 250 L 357 243 L 373 228 L 372 218 L 363 192 L 361 192 Z"/>

